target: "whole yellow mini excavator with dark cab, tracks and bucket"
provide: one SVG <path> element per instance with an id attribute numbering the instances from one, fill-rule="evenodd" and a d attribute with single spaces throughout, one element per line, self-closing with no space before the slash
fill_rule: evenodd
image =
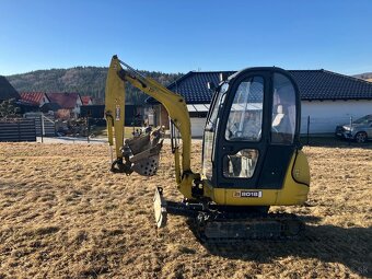
<path id="1" fill-rule="evenodd" d="M 172 124 L 175 179 L 184 199 L 165 200 L 163 189 L 155 189 L 158 228 L 166 224 L 170 213 L 190 218 L 197 236 L 207 242 L 288 239 L 303 231 L 295 216 L 268 212 L 270 206 L 304 204 L 310 186 L 299 141 L 300 94 L 287 71 L 248 68 L 209 84 L 214 94 L 204 130 L 201 173 L 190 167 L 190 118 L 184 97 L 117 56 L 105 93 L 108 141 L 116 151 L 112 171 L 154 175 L 159 168 L 160 128 L 124 141 L 126 83 L 158 100 Z"/>

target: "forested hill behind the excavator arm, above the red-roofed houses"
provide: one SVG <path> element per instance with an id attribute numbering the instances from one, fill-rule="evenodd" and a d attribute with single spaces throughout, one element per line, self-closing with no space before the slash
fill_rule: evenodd
<path id="1" fill-rule="evenodd" d="M 183 73 L 163 73 L 155 71 L 140 71 L 163 85 L 168 85 Z M 104 98 L 107 68 L 104 67 L 75 67 L 70 69 L 38 70 L 22 74 L 7 77 L 9 82 L 19 92 L 78 92 L 81 95 L 91 95 L 94 98 Z M 127 102 L 141 104 L 146 94 L 132 86 L 126 92 Z"/>

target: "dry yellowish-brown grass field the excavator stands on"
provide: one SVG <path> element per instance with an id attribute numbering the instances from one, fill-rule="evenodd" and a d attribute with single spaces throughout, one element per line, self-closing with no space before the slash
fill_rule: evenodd
<path id="1" fill-rule="evenodd" d="M 304 151 L 310 199 L 286 211 L 305 237 L 208 246 L 185 218 L 154 228 L 154 187 L 181 198 L 168 146 L 147 178 L 109 173 L 105 144 L 0 143 L 0 278 L 371 278 L 372 149 Z"/>

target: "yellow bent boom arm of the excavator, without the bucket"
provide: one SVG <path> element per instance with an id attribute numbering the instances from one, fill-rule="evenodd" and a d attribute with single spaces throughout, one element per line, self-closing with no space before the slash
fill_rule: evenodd
<path id="1" fill-rule="evenodd" d="M 121 65 L 126 66 L 127 69 L 123 69 Z M 114 56 L 108 69 L 106 82 L 105 114 L 108 128 L 108 141 L 111 146 L 114 144 L 113 127 L 115 130 L 117 160 L 123 160 L 120 149 L 123 148 L 124 141 L 125 82 L 129 82 L 135 88 L 158 100 L 165 107 L 172 123 L 178 129 L 183 144 L 181 170 L 179 165 L 177 165 L 177 162 L 179 162 L 179 159 L 177 158 L 179 156 L 179 152 L 178 150 L 175 152 L 176 181 L 178 183 L 179 190 L 186 197 L 190 197 L 191 182 L 194 179 L 194 175 L 190 170 L 191 130 L 190 118 L 184 97 L 167 90 L 153 79 L 143 77 L 126 63 L 121 62 L 117 56 Z"/>

